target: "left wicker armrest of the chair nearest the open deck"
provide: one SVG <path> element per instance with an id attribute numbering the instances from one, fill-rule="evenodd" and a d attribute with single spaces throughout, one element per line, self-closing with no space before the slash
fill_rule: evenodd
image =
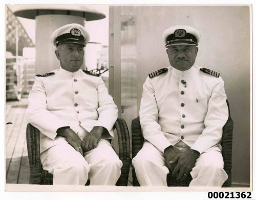
<path id="1" fill-rule="evenodd" d="M 30 166 L 30 181 L 32 184 L 40 184 L 41 159 L 40 159 L 40 134 L 39 130 L 28 123 L 27 148 Z"/>

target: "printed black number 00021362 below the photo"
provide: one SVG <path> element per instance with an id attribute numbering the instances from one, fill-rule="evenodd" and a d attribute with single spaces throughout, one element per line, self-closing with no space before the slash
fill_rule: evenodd
<path id="1" fill-rule="evenodd" d="M 208 198 L 251 198 L 251 192 L 208 192 Z"/>

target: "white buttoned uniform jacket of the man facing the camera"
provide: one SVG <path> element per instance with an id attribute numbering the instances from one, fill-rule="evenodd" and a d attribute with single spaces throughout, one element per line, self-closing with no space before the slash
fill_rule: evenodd
<path id="1" fill-rule="evenodd" d="M 147 77 L 143 85 L 139 115 L 144 138 L 161 152 L 180 140 L 200 154 L 209 148 L 221 149 L 222 128 L 228 119 L 221 77 L 195 65 L 186 71 L 167 69 Z"/>

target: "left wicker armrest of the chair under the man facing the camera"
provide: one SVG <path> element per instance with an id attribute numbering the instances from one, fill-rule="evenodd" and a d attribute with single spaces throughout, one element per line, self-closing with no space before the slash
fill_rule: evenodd
<path id="1" fill-rule="evenodd" d="M 140 127 L 140 117 L 132 120 L 132 157 L 134 158 L 142 148 L 144 138 Z"/>

